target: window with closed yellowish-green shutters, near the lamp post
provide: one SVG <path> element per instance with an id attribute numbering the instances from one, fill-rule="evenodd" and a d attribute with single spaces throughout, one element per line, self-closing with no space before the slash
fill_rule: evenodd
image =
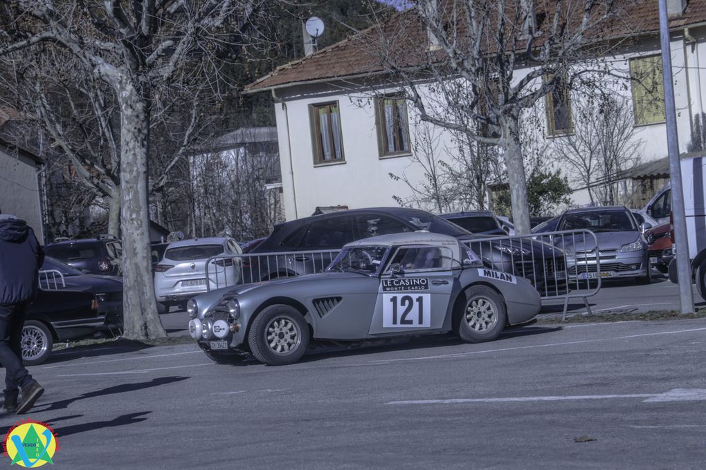
<path id="1" fill-rule="evenodd" d="M 664 123 L 662 56 L 630 59 L 635 124 Z"/>

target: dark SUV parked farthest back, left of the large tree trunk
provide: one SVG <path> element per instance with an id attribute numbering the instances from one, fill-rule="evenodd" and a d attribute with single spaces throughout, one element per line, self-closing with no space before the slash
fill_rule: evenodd
<path id="1" fill-rule="evenodd" d="M 123 245 L 111 235 L 49 243 L 44 252 L 84 273 L 122 275 Z"/>

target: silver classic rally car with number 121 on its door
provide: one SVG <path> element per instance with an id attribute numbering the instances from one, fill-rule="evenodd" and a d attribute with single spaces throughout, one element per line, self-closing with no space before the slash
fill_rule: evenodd
<path id="1" fill-rule="evenodd" d="M 323 273 L 226 287 L 187 306 L 191 337 L 208 357 L 227 363 L 249 352 L 271 365 L 299 360 L 311 340 L 453 331 L 489 341 L 539 308 L 525 278 L 484 268 L 462 242 L 428 232 L 352 242 Z"/>

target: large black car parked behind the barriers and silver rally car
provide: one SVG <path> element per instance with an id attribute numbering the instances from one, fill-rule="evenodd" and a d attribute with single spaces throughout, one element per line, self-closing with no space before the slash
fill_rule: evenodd
<path id="1" fill-rule="evenodd" d="M 473 235 L 444 218 L 405 207 L 352 209 L 275 225 L 273 233 L 250 252 L 251 256 L 244 258 L 244 282 L 316 273 L 328 266 L 337 250 L 349 242 L 416 230 L 443 233 L 467 241 L 487 267 L 528 278 L 542 295 L 556 295 L 566 290 L 566 285 L 556 282 L 559 277 L 563 278 L 561 250 L 530 240 L 483 242 L 487 235 Z M 331 252 L 311 253 L 318 250 Z M 292 254 L 254 256 L 277 252 Z M 534 268 L 538 270 L 537 275 L 532 271 Z"/>

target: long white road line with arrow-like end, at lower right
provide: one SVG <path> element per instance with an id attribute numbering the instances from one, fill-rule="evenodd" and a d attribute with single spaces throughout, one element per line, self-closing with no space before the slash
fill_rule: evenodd
<path id="1" fill-rule="evenodd" d="M 508 402 L 558 402 L 565 400 L 610 400 L 614 398 L 647 398 L 642 403 L 700 402 L 706 400 L 706 389 L 674 388 L 664 393 L 630 393 L 626 395 L 567 395 L 547 397 L 506 398 L 448 398 L 445 400 L 400 400 L 385 404 L 459 404 L 459 403 L 508 403 Z"/>

